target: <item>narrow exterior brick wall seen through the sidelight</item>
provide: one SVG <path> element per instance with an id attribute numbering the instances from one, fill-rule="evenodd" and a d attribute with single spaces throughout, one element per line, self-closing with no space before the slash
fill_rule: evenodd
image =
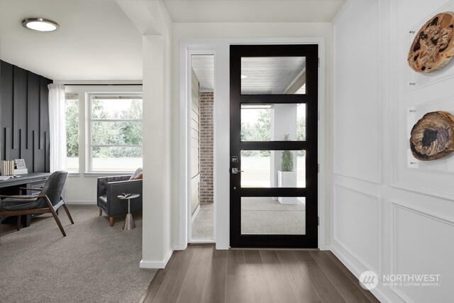
<path id="1" fill-rule="evenodd" d="M 200 203 L 213 203 L 213 92 L 200 92 Z"/>

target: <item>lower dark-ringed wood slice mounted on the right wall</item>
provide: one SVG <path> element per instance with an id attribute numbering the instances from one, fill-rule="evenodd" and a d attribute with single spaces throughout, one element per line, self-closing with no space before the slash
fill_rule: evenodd
<path id="1" fill-rule="evenodd" d="M 425 114 L 411 129 L 411 153 L 419 160 L 436 160 L 454 151 L 454 116 L 447 111 Z"/>

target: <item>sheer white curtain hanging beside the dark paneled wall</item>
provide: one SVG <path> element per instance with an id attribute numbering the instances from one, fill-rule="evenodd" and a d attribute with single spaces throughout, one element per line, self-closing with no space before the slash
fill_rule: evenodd
<path id="1" fill-rule="evenodd" d="M 66 170 L 65 85 L 49 84 L 50 172 Z"/>

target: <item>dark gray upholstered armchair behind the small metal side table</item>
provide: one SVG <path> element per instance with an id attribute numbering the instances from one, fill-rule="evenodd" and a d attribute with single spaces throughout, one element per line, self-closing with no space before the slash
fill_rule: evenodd
<path id="1" fill-rule="evenodd" d="M 104 211 L 111 226 L 114 226 L 114 216 L 128 213 L 128 201 L 118 199 L 118 194 L 140 194 L 140 197 L 131 199 L 131 212 L 142 210 L 142 180 L 130 178 L 131 175 L 98 178 L 96 204 L 99 216 Z"/>

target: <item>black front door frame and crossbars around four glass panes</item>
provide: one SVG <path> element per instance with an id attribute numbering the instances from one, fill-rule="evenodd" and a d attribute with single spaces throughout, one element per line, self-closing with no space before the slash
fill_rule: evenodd
<path id="1" fill-rule="evenodd" d="M 246 95 L 241 92 L 241 57 L 306 57 L 306 94 Z M 230 245 L 260 248 L 317 248 L 318 243 L 318 101 L 319 45 L 231 45 L 230 47 L 230 170 L 240 170 L 240 150 L 306 150 L 305 188 L 241 188 L 240 173 L 230 174 Z M 242 142 L 240 106 L 306 104 L 306 141 Z M 240 197 L 306 197 L 305 235 L 242 235 Z"/>

